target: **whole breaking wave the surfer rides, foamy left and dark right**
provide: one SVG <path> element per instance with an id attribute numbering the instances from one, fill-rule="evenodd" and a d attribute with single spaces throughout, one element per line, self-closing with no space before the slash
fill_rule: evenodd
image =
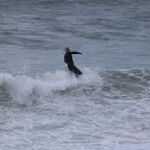
<path id="1" fill-rule="evenodd" d="M 0 104 L 32 105 L 57 96 L 109 99 L 150 97 L 150 71 L 144 69 L 98 71 L 85 69 L 79 79 L 58 70 L 35 77 L 0 73 Z"/>

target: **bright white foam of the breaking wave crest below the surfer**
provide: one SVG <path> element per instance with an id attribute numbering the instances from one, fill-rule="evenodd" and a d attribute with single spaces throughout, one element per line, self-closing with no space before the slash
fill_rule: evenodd
<path id="1" fill-rule="evenodd" d="M 85 69 L 84 75 L 76 78 L 68 72 L 58 70 L 54 73 L 47 72 L 43 75 L 31 77 L 27 75 L 16 75 L 8 73 L 0 74 L 0 86 L 3 87 L 14 101 L 21 104 L 32 103 L 32 95 L 44 97 L 51 95 L 54 91 L 65 90 L 80 84 L 100 81 L 98 73 Z"/>

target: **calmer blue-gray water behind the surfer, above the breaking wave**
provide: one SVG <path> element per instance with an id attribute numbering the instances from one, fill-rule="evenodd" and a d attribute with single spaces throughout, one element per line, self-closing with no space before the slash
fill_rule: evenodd
<path id="1" fill-rule="evenodd" d="M 63 68 L 65 46 L 82 66 L 149 68 L 149 14 L 149 0 L 0 0 L 0 69 Z"/>

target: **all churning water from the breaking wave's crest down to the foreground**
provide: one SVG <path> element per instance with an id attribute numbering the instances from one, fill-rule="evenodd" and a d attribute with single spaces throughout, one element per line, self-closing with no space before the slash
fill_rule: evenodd
<path id="1" fill-rule="evenodd" d="M 149 99 L 146 69 L 1 73 L 0 148 L 148 150 Z"/>

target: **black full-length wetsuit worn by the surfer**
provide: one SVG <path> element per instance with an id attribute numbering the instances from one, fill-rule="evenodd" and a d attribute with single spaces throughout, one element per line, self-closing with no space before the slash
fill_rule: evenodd
<path id="1" fill-rule="evenodd" d="M 72 54 L 82 54 L 80 52 L 67 52 L 64 56 L 64 61 L 68 65 L 68 69 L 73 72 L 76 76 L 82 74 L 82 72 L 74 65 Z"/>

